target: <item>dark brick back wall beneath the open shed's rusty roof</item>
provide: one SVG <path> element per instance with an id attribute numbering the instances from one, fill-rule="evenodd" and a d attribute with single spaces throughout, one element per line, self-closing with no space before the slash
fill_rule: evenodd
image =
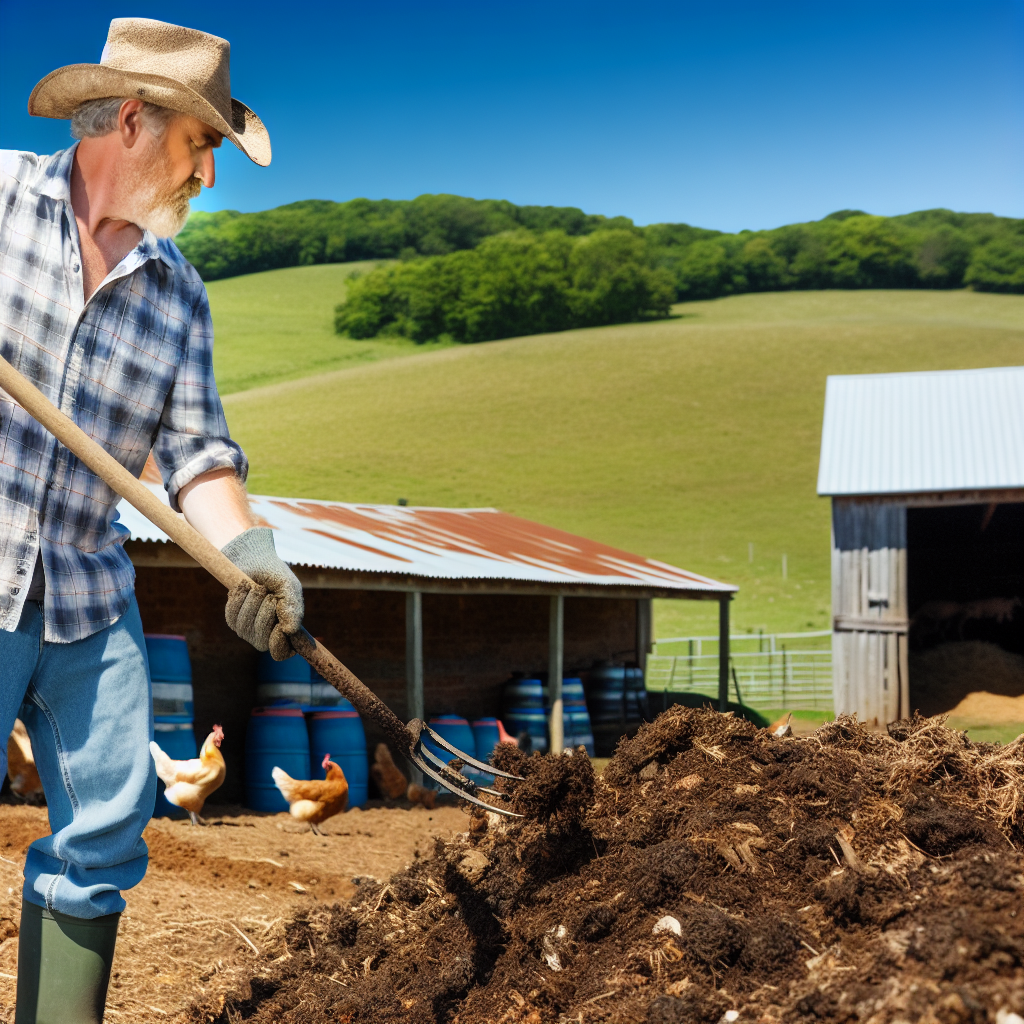
<path id="1" fill-rule="evenodd" d="M 224 623 L 224 590 L 202 569 L 137 569 L 136 594 L 150 633 L 188 641 L 200 740 L 224 727 L 227 777 L 222 802 L 244 799 L 249 713 L 256 705 L 258 655 Z M 403 719 L 406 595 L 386 591 L 307 590 L 306 628 Z M 424 702 L 427 714 L 467 718 L 500 713 L 501 686 L 513 671 L 548 666 L 547 597 L 425 594 Z M 636 601 L 565 600 L 565 672 L 600 659 L 636 658 Z M 365 723 L 371 745 L 382 738 Z"/>

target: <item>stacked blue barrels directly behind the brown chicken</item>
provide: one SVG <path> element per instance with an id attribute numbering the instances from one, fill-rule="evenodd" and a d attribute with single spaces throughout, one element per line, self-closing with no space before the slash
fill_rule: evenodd
<path id="1" fill-rule="evenodd" d="M 348 781 L 348 806 L 367 802 L 367 737 L 358 712 L 298 654 L 260 657 L 254 708 L 246 732 L 246 802 L 258 811 L 287 811 L 271 770 L 322 779 L 325 754 Z"/>

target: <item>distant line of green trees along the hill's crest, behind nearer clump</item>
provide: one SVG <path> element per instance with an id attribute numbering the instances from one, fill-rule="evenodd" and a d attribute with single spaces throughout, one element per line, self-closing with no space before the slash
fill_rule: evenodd
<path id="1" fill-rule="evenodd" d="M 672 275 L 677 300 L 818 288 L 963 288 L 1024 292 L 1024 220 L 925 210 L 728 234 L 689 224 L 637 227 L 573 207 L 420 196 L 307 200 L 261 213 L 194 213 L 177 243 L 204 281 L 312 263 L 401 259 L 475 249 L 506 231 L 581 238 L 626 230 Z"/>

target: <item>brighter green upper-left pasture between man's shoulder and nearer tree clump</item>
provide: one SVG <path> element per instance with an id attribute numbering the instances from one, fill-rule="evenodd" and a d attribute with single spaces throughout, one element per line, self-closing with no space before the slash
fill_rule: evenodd
<path id="1" fill-rule="evenodd" d="M 378 265 L 295 266 L 207 285 L 221 394 L 441 347 L 407 338 L 349 341 L 334 333 L 334 307 L 345 298 L 346 280 Z"/>

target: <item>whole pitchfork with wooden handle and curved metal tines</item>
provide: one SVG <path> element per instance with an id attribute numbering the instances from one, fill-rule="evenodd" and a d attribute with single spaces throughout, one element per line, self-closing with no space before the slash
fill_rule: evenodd
<path id="1" fill-rule="evenodd" d="M 220 581 L 228 590 L 240 584 L 253 586 L 249 579 L 226 555 L 218 551 L 202 534 L 190 526 L 183 516 L 172 512 L 145 484 L 137 480 L 124 466 L 106 451 L 87 436 L 69 417 L 56 409 L 31 381 L 19 374 L 3 356 L 0 356 L 0 387 L 14 398 L 37 422 L 45 427 L 58 441 L 73 452 L 89 467 L 115 494 L 120 495 L 142 513 L 155 526 L 162 529 L 175 544 L 191 555 L 207 571 Z M 467 765 L 488 775 L 522 781 L 518 775 L 501 771 L 493 765 L 484 764 L 470 757 L 464 751 L 453 746 L 443 736 L 438 735 L 418 718 L 409 725 L 387 707 L 368 686 L 361 683 L 345 668 L 318 640 L 306 630 L 289 637 L 292 647 L 301 654 L 331 685 L 347 697 L 365 718 L 377 723 L 391 743 L 404 755 L 425 775 L 439 782 L 445 790 L 463 800 L 488 811 L 498 811 L 511 817 L 519 817 L 504 807 L 485 803 L 476 795 L 484 793 L 489 797 L 507 800 L 508 796 L 498 790 L 477 785 L 472 779 L 455 771 L 423 742 L 424 737 L 452 754 Z"/>

